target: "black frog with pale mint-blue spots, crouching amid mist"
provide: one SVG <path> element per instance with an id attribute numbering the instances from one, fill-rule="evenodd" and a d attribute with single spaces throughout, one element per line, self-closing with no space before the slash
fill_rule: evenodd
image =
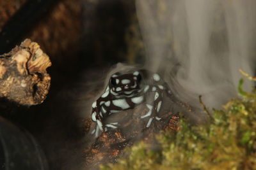
<path id="1" fill-rule="evenodd" d="M 118 128 L 118 122 L 104 124 L 104 120 L 111 114 L 130 110 L 145 103 L 148 96 L 154 98 L 151 100 L 153 102 L 146 103 L 148 111 L 140 118 L 148 118 L 146 127 L 150 127 L 153 120 L 161 120 L 159 111 L 163 104 L 164 92 L 172 96 L 168 84 L 161 76 L 147 69 L 112 74 L 103 94 L 92 104 L 92 121 L 97 123 L 92 134 L 97 138 L 100 132 Z M 152 93 L 154 95 L 150 95 Z"/>

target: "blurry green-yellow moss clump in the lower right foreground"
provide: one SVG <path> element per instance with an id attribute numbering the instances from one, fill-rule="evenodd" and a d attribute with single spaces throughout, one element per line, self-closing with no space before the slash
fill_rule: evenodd
<path id="1" fill-rule="evenodd" d="M 127 150 L 126 159 L 101 169 L 256 169 L 256 92 L 243 91 L 204 126 L 180 121 L 176 134 L 157 136 L 159 144 L 139 143 Z"/>

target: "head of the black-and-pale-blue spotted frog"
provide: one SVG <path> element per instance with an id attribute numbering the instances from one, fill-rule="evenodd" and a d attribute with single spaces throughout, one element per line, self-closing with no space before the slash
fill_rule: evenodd
<path id="1" fill-rule="evenodd" d="M 109 80 L 109 89 L 111 93 L 116 96 L 130 96 L 138 93 L 138 90 L 140 90 L 140 82 L 140 71 L 123 74 L 115 73 Z"/>

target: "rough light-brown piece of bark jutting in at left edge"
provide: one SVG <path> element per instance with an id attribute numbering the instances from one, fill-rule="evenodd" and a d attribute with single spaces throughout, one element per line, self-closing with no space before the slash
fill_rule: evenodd
<path id="1" fill-rule="evenodd" d="M 0 97 L 28 106 L 42 103 L 51 83 L 49 66 L 49 56 L 30 39 L 0 55 Z"/>

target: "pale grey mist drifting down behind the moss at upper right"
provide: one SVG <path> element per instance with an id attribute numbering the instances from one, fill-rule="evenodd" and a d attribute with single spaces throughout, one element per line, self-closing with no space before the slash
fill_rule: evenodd
<path id="1" fill-rule="evenodd" d="M 145 67 L 163 74 L 182 101 L 209 108 L 237 96 L 243 78 L 254 74 L 256 1 L 136 1 L 145 43 Z M 252 82 L 244 85 L 250 90 Z"/>

